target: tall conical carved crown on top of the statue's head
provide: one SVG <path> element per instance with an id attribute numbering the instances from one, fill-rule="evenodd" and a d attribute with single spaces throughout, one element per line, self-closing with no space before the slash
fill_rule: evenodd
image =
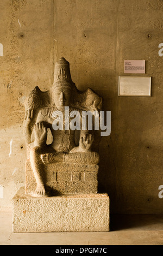
<path id="1" fill-rule="evenodd" d="M 65 58 L 60 58 L 55 62 L 54 68 L 54 84 L 53 87 L 68 86 L 74 87 L 74 83 L 70 74 L 70 63 Z"/>

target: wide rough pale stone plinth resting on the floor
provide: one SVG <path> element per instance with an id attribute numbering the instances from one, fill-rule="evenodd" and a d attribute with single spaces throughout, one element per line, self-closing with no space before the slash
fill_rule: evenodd
<path id="1" fill-rule="evenodd" d="M 109 231 L 108 194 L 32 198 L 20 188 L 12 203 L 15 233 Z"/>

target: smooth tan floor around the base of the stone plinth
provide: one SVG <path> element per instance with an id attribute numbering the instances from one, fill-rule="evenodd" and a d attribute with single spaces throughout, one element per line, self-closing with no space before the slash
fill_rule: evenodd
<path id="1" fill-rule="evenodd" d="M 11 221 L 0 212 L 0 245 L 163 245 L 163 215 L 110 216 L 106 233 L 12 233 Z"/>

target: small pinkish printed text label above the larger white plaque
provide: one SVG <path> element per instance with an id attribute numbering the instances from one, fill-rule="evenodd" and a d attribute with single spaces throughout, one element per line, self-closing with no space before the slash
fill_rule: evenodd
<path id="1" fill-rule="evenodd" d="M 145 74 L 146 61 L 124 61 L 124 73 Z"/>

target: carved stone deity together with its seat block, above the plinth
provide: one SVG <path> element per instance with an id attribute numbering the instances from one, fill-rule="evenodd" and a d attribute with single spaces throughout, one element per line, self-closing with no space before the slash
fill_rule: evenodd
<path id="1" fill-rule="evenodd" d="M 72 82 L 69 62 L 60 58 L 55 63 L 51 90 L 42 92 L 36 86 L 25 108 L 26 194 L 48 197 L 57 193 L 97 193 L 100 136 L 93 126 L 90 130 L 87 123 L 82 123 L 82 117 L 83 112 L 102 110 L 102 98 L 90 88 L 79 91 Z M 48 135 L 51 144 L 47 144 Z M 91 182 L 96 183 L 94 190 Z"/>

